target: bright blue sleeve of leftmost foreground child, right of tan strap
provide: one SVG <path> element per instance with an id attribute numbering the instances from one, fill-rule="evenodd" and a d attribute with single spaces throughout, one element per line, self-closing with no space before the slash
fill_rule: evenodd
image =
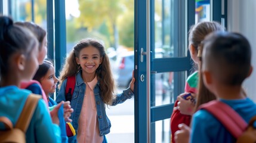
<path id="1" fill-rule="evenodd" d="M 38 101 L 26 132 L 27 142 L 61 142 L 60 128 L 55 125 L 43 100 Z"/>

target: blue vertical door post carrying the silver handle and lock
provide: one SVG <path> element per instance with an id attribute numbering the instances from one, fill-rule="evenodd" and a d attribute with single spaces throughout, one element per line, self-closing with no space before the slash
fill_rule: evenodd
<path id="1" fill-rule="evenodd" d="M 141 63 L 140 48 L 146 49 L 146 1 L 134 1 L 135 11 L 135 26 L 134 26 L 134 76 L 135 96 L 134 96 L 134 137 L 135 142 L 147 141 L 147 94 L 146 94 L 146 77 L 144 82 L 141 82 L 140 76 L 146 75 L 146 62 Z M 146 57 L 143 57 L 146 60 Z"/>

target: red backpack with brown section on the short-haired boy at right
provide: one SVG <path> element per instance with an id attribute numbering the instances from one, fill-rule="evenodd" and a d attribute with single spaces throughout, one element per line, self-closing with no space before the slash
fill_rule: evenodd
<path id="1" fill-rule="evenodd" d="M 253 143 L 256 142 L 256 129 L 253 126 L 256 116 L 252 117 L 249 124 L 231 108 L 229 105 L 221 101 L 211 101 L 202 104 L 199 107 L 211 113 L 221 124 L 229 130 L 231 135 L 236 138 L 237 143 Z"/>

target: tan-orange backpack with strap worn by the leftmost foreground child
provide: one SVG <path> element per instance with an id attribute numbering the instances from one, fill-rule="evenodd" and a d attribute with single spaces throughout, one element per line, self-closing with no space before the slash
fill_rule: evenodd
<path id="1" fill-rule="evenodd" d="M 27 97 L 24 108 L 14 128 L 10 119 L 0 117 L 0 122 L 4 123 L 6 129 L 0 130 L 0 142 L 26 142 L 26 131 L 40 98 L 41 96 L 35 94 L 30 94 Z"/>

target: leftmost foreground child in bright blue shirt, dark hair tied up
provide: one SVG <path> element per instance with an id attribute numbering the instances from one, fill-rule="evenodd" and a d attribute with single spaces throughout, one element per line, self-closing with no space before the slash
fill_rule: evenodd
<path id="1" fill-rule="evenodd" d="M 22 80 L 32 79 L 38 69 L 37 55 L 38 41 L 33 33 L 14 24 L 10 17 L 0 16 L 0 117 L 7 117 L 14 126 L 27 98 L 32 96 L 31 91 L 19 87 Z M 59 142 L 58 116 L 53 116 L 52 122 L 45 102 L 36 102 L 26 142 Z M 56 112 L 62 104 L 55 108 Z M 1 123 L 0 130 L 6 129 Z"/>

